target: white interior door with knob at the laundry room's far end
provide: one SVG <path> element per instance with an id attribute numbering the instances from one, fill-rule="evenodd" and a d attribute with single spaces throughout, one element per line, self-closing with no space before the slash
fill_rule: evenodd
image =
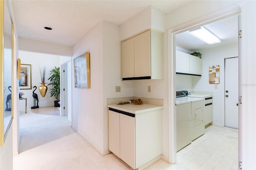
<path id="1" fill-rule="evenodd" d="M 225 59 L 225 126 L 238 129 L 238 57 Z"/>

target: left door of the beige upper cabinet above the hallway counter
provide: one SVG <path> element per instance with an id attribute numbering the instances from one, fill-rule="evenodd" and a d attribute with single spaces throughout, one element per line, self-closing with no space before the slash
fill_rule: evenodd
<path id="1" fill-rule="evenodd" d="M 122 42 L 122 78 L 134 77 L 134 38 Z"/>

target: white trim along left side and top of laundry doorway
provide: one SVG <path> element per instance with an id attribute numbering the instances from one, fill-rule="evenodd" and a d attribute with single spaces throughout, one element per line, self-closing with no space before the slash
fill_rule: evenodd
<path id="1" fill-rule="evenodd" d="M 182 24 L 180 26 L 171 28 L 168 30 L 168 108 L 169 108 L 169 162 L 171 164 L 176 163 L 176 114 L 175 114 L 175 96 L 176 96 L 176 68 L 175 68 L 175 34 L 189 30 L 190 28 L 205 25 L 222 18 L 227 18 L 229 16 L 238 15 L 241 13 L 241 9 L 229 8 L 222 9 L 214 14 L 198 18 L 191 22 Z"/>

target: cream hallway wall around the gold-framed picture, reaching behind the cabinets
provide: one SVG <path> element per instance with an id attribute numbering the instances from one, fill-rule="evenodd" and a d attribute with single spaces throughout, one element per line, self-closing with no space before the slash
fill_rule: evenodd
<path id="1" fill-rule="evenodd" d="M 132 82 L 122 82 L 120 77 L 118 26 L 104 21 L 98 23 L 75 44 L 72 59 L 85 52 L 90 52 L 91 88 L 74 88 L 72 82 L 72 127 L 101 154 L 107 154 L 107 98 L 133 95 Z M 115 86 L 122 86 L 121 92 L 116 93 Z"/>

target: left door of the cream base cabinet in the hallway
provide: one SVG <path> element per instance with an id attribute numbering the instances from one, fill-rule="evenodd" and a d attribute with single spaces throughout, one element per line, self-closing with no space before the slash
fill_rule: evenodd
<path id="1" fill-rule="evenodd" d="M 120 120 L 119 113 L 108 111 L 109 150 L 120 158 Z"/>

